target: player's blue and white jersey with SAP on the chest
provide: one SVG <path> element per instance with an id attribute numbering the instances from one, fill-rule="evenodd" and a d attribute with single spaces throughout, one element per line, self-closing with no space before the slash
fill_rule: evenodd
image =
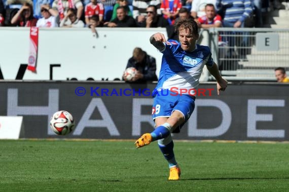
<path id="1" fill-rule="evenodd" d="M 213 66 L 211 52 L 208 46 L 196 44 L 195 50 L 186 52 L 175 40 L 165 42 L 159 81 L 156 89 L 179 89 L 197 88 L 199 79 L 205 65 Z M 187 93 L 188 94 L 188 93 Z"/>

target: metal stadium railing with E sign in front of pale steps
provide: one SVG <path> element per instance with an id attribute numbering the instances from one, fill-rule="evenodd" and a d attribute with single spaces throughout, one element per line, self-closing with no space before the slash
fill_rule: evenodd
<path id="1" fill-rule="evenodd" d="M 210 28 L 200 32 L 201 43 L 210 46 L 213 58 L 228 80 L 275 81 L 275 68 L 289 70 L 289 29 Z M 260 43 L 257 46 L 260 34 L 268 36 L 259 38 L 261 50 Z M 271 38 L 272 34 L 277 38 Z M 272 45 L 277 49 L 266 51 Z"/>

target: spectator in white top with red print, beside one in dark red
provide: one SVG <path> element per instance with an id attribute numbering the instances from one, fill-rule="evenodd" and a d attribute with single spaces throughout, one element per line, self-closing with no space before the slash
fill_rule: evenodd
<path id="1" fill-rule="evenodd" d="M 51 9 L 48 4 L 41 5 L 42 18 L 38 19 L 37 27 L 58 27 L 58 11 Z"/>

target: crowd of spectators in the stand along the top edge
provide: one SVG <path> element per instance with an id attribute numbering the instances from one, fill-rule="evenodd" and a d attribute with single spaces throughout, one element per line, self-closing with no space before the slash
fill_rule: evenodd
<path id="1" fill-rule="evenodd" d="M 280 9 L 280 1 L 0 0 L 0 26 L 170 29 L 176 19 L 186 15 L 204 28 L 263 27 L 262 14 L 269 9 Z M 169 30 L 168 33 L 173 35 Z"/>

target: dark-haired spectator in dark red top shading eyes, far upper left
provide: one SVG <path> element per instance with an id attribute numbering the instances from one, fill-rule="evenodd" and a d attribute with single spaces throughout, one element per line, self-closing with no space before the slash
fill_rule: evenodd
<path id="1" fill-rule="evenodd" d="M 33 17 L 32 4 L 24 3 L 21 9 L 11 19 L 11 24 L 20 27 L 35 27 L 37 19 Z"/>

